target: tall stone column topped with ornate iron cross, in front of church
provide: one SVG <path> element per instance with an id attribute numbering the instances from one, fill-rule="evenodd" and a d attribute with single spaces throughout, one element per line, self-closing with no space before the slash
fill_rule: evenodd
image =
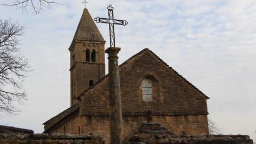
<path id="1" fill-rule="evenodd" d="M 109 24 L 109 37 L 110 47 L 105 51 L 108 53 L 108 70 L 109 70 L 109 125 L 110 125 L 110 143 L 121 144 L 123 143 L 123 118 L 122 118 L 122 103 L 121 103 L 121 90 L 120 78 L 118 69 L 117 54 L 121 50 L 120 47 L 115 47 L 115 30 L 114 25 L 127 25 L 125 20 L 114 19 L 114 8 L 108 6 L 108 19 L 95 18 L 97 23 Z"/>

